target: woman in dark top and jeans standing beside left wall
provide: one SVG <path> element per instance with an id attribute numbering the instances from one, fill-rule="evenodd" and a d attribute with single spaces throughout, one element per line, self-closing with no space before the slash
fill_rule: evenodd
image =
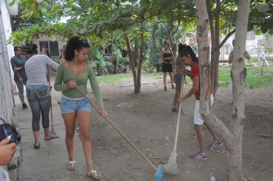
<path id="1" fill-rule="evenodd" d="M 15 56 L 10 59 L 10 63 L 14 72 L 14 81 L 18 87 L 22 107 L 23 109 L 28 109 L 24 99 L 24 85 L 26 85 L 28 81 L 28 78 L 25 74 L 26 58 L 22 55 L 22 47 L 14 47 L 14 53 Z"/>

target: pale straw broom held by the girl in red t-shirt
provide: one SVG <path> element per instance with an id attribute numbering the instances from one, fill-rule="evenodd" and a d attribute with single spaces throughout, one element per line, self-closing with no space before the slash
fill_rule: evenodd
<path id="1" fill-rule="evenodd" d="M 184 76 L 183 76 L 182 85 L 181 85 L 180 97 L 183 96 L 183 85 L 184 85 Z M 176 157 L 177 157 L 176 146 L 177 146 L 177 139 L 178 139 L 181 108 L 182 108 L 182 103 L 179 104 L 179 110 L 178 110 L 178 116 L 177 116 L 177 122 L 176 122 L 176 132 L 175 132 L 175 139 L 174 139 L 174 148 L 170 154 L 168 161 L 164 165 L 164 172 L 168 174 L 172 174 L 172 175 L 179 173 L 179 169 L 176 163 Z"/>

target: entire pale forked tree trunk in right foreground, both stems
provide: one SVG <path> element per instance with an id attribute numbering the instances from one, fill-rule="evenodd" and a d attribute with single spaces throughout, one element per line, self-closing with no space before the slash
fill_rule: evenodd
<path id="1" fill-rule="evenodd" d="M 229 129 L 212 112 L 210 106 L 210 61 L 207 39 L 208 22 L 205 1 L 195 0 L 197 12 L 197 42 L 200 66 L 200 114 L 208 127 L 213 129 L 227 148 L 227 180 L 241 181 L 242 173 L 242 135 L 244 116 L 244 78 L 243 61 L 248 25 L 250 0 L 239 1 L 232 63 L 233 108 Z M 240 44 L 239 44 L 240 43 Z"/>

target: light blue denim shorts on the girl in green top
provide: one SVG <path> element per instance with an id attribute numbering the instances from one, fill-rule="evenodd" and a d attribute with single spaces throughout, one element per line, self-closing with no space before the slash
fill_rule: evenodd
<path id="1" fill-rule="evenodd" d="M 61 113 L 71 113 L 74 111 L 91 111 L 91 105 L 86 98 L 80 100 L 71 100 L 62 96 Z"/>

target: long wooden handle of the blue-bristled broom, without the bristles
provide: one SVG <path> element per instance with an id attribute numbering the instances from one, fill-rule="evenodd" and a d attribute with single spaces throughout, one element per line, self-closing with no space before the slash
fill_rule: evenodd
<path id="1" fill-rule="evenodd" d="M 100 110 L 99 108 L 93 104 L 91 102 L 91 100 L 79 89 L 79 87 L 77 86 L 76 89 L 90 102 L 90 104 L 100 113 Z M 136 145 L 131 141 L 129 140 L 125 134 L 123 134 L 120 129 L 118 127 L 116 127 L 116 125 L 108 118 L 108 117 L 103 117 L 104 119 L 106 119 L 106 121 L 108 121 L 108 123 L 110 123 L 114 128 L 115 130 L 117 130 L 117 132 L 120 133 L 120 135 L 126 140 L 128 141 L 128 143 L 133 146 L 133 148 L 154 168 L 156 169 L 156 167 L 153 165 L 153 163 L 136 147 Z"/>

